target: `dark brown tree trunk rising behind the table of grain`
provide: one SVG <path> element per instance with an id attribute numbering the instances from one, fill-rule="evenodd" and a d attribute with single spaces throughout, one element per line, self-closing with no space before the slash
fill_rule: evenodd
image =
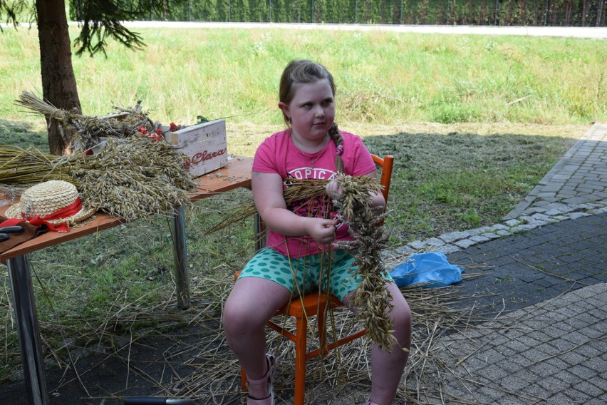
<path id="1" fill-rule="evenodd" d="M 64 0 L 36 0 L 42 96 L 57 108 L 81 113 Z M 71 152 L 71 135 L 62 133 L 56 120 L 46 117 L 51 153 Z"/>

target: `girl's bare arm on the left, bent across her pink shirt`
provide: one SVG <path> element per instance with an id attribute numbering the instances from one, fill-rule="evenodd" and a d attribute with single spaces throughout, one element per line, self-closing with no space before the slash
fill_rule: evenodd
<path id="1" fill-rule="evenodd" d="M 280 175 L 253 172 L 251 188 L 257 212 L 271 230 L 289 236 L 309 235 L 322 244 L 335 239 L 336 220 L 300 217 L 286 208 Z"/>

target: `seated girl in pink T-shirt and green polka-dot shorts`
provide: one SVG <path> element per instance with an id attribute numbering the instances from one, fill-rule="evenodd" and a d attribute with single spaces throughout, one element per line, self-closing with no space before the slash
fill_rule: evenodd
<path id="1" fill-rule="evenodd" d="M 347 226 L 327 218 L 321 205 L 287 206 L 285 179 L 329 180 L 336 173 L 375 178 L 375 165 L 360 137 L 339 131 L 334 123 L 335 84 L 326 68 L 311 61 L 291 61 L 281 76 L 279 100 L 287 129 L 266 138 L 256 150 L 251 180 L 256 208 L 270 230 L 267 247 L 244 267 L 224 308 L 227 342 L 249 381 L 247 405 L 274 404 L 275 360 L 266 354 L 264 324 L 291 294 L 318 284 L 321 263 L 326 262 L 321 255 L 331 242 L 351 240 Z M 328 183 L 326 191 L 330 198 L 341 192 L 336 181 Z M 381 193 L 373 195 L 373 205 L 385 205 Z M 351 273 L 354 258 L 340 250 L 332 254 L 331 294 L 356 311 L 351 305 L 351 293 L 358 285 Z M 389 276 L 385 287 L 393 297 L 389 315 L 398 346 L 390 352 L 373 347 L 367 405 L 392 404 L 410 347 L 407 301 Z"/>

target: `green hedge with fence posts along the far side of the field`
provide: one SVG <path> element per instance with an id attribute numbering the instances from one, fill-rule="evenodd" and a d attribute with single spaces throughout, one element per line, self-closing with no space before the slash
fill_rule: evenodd
<path id="1" fill-rule="evenodd" d="M 606 0 L 190 0 L 162 15 L 150 15 L 150 19 L 328 24 L 606 26 L 606 12 Z"/>

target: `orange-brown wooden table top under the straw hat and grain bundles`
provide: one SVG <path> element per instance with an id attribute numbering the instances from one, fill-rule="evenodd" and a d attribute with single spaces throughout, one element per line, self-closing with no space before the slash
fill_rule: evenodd
<path id="1" fill-rule="evenodd" d="M 219 193 L 224 193 L 234 188 L 251 188 L 251 166 L 253 165 L 252 158 L 244 156 L 232 155 L 232 159 L 223 168 L 214 170 L 204 174 L 199 178 L 194 179 L 198 183 L 196 193 L 190 194 L 192 201 L 209 198 Z M 0 215 L 4 215 L 4 211 L 9 207 L 9 200 L 0 200 Z M 84 235 L 90 235 L 100 230 L 105 230 L 110 227 L 118 226 L 124 223 L 125 220 L 119 217 L 110 217 L 105 212 L 97 212 L 93 217 L 78 224 L 77 227 L 71 228 L 70 232 L 46 232 L 43 235 L 35 237 L 24 243 L 16 245 L 6 252 L 0 253 L 0 262 L 13 257 L 26 255 L 30 252 L 35 252 L 43 247 L 58 245 L 68 240 L 73 240 Z"/>

